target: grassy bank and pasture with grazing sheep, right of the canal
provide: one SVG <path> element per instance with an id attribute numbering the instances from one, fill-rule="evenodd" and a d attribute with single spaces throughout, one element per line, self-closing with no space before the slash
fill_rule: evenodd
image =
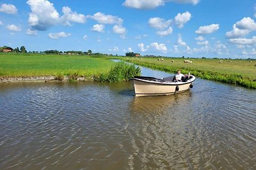
<path id="1" fill-rule="evenodd" d="M 194 59 L 191 64 L 188 64 L 184 63 L 184 59 L 172 58 L 157 60 L 156 58 L 132 59 L 122 57 L 121 59 L 169 73 L 175 73 L 177 69 L 180 69 L 184 74 L 190 72 L 207 80 L 256 89 L 255 60 L 249 62 L 248 60 Z"/>

